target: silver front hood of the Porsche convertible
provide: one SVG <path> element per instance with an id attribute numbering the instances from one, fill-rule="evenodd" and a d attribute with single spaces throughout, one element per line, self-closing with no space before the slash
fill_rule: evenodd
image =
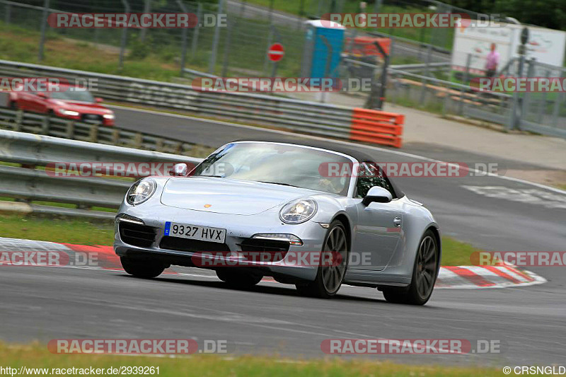
<path id="1" fill-rule="evenodd" d="M 253 215 L 289 200 L 320 192 L 229 178 L 171 178 L 161 193 L 161 204 L 219 214 Z"/>

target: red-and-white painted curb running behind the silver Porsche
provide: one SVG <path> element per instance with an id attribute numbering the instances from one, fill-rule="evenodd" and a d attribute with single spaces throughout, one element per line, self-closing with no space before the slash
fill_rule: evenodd
<path id="1" fill-rule="evenodd" d="M 69 265 L 47 267 L 67 267 L 82 269 L 103 269 L 122 271 L 120 258 L 115 255 L 112 246 L 72 245 L 68 243 L 54 243 L 36 240 L 21 240 L 17 238 L 0 237 L 0 265 L 11 264 L 10 253 L 57 252 L 69 254 Z M 95 254 L 96 253 L 96 254 Z M 73 257 L 80 254 L 81 257 Z M 96 256 L 86 260 L 84 255 Z M 79 260 L 79 262 L 77 262 Z M 44 266 L 40 266 L 44 267 Z M 216 274 L 207 269 L 190 269 L 185 273 L 185 267 L 171 267 L 165 274 L 202 277 L 216 279 Z M 271 277 L 265 277 L 262 282 L 275 282 Z M 481 288 L 507 288 L 514 286 L 530 286 L 543 284 L 546 279 L 529 271 L 521 271 L 514 266 L 446 266 L 440 267 L 435 288 L 437 289 L 481 289 Z"/>

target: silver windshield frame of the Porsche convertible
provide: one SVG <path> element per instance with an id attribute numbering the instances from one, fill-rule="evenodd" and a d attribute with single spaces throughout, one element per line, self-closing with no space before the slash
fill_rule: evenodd
<path id="1" fill-rule="evenodd" d="M 195 176 L 195 177 L 214 177 L 214 178 L 222 178 L 222 179 L 233 179 L 233 180 L 246 180 L 248 182 L 264 182 L 264 183 L 274 183 L 277 185 L 281 185 L 282 187 L 299 187 L 301 189 L 304 190 L 313 190 L 313 191 L 317 191 L 317 192 L 322 192 L 324 194 L 328 194 L 328 195 L 337 195 L 340 197 L 353 197 L 354 195 L 354 190 L 355 190 L 355 182 L 356 182 L 356 177 L 355 175 L 351 175 L 349 178 L 347 178 L 347 186 L 345 184 L 345 188 L 347 187 L 347 190 L 342 190 L 345 191 L 344 193 L 340 192 L 331 192 L 331 191 L 325 191 L 325 190 L 320 190 L 320 189 L 316 189 L 316 188 L 312 188 L 312 187 L 304 187 L 304 186 L 298 186 L 298 185 L 288 185 L 284 182 L 270 182 L 269 179 L 262 179 L 262 180 L 250 180 L 250 179 L 243 179 L 243 178 L 231 178 L 230 176 L 221 176 L 221 175 L 214 175 L 214 174 L 200 174 L 202 172 L 204 172 L 205 168 L 202 168 L 204 165 L 204 163 L 207 163 L 207 160 L 209 160 L 209 158 L 211 158 L 211 156 L 215 156 L 217 153 L 220 153 L 221 151 L 224 151 L 227 148 L 231 148 L 231 146 L 235 146 L 236 144 L 258 144 L 258 145 L 262 145 L 265 146 L 265 144 L 272 144 L 272 145 L 279 145 L 279 146 L 289 146 L 289 147 L 293 147 L 293 148 L 297 148 L 297 149 L 308 149 L 308 150 L 312 150 L 312 151 L 318 151 L 318 152 L 322 152 L 322 153 L 329 153 L 330 155 L 335 155 L 338 156 L 342 159 L 347 159 L 350 161 L 350 163 L 353 163 L 354 165 L 359 163 L 357 161 L 356 158 L 353 158 L 350 155 L 347 155 L 345 153 L 340 153 L 337 151 L 332 151 L 330 149 L 323 149 L 323 148 L 316 148 L 313 146 L 306 146 L 306 145 L 301 145 L 301 144 L 291 144 L 291 143 L 277 143 L 277 142 L 271 142 L 271 141 L 234 141 L 232 143 L 229 144 L 225 144 L 224 146 L 221 146 L 219 149 L 216 149 L 216 151 L 214 151 L 213 153 L 211 153 L 207 158 L 204 158 L 204 160 L 199 163 L 197 166 L 195 166 L 194 169 L 192 169 L 192 171 L 190 172 L 190 176 Z M 202 171 L 199 171 L 200 169 L 202 169 Z"/>

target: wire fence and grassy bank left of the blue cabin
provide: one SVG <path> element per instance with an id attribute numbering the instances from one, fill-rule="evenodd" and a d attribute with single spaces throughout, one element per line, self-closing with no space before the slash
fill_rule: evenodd
<path id="1" fill-rule="evenodd" d="M 271 65 L 267 62 L 267 49 L 273 42 L 285 45 L 288 59 L 278 64 L 279 75 L 299 76 L 304 45 L 302 23 L 279 25 L 270 21 L 267 13 L 240 16 L 227 0 L 216 1 L 143 1 L 94 0 L 88 3 L 45 0 L 35 5 L 0 0 L 0 25 L 16 26 L 40 33 L 37 38 L 37 62 L 47 54 L 58 54 L 57 49 L 47 50 L 45 43 L 66 38 L 74 42 L 88 42 L 97 49 L 114 53 L 116 66 L 141 62 L 154 57 L 163 64 L 180 66 L 180 71 L 193 67 L 222 76 L 267 76 Z M 50 13 L 195 13 L 199 23 L 195 28 L 51 28 L 47 24 Z M 226 22 L 223 18 L 226 15 Z M 219 22 L 214 21 L 220 20 Z M 300 25 L 300 28 L 297 28 Z M 15 30 L 17 33 L 17 29 Z"/>

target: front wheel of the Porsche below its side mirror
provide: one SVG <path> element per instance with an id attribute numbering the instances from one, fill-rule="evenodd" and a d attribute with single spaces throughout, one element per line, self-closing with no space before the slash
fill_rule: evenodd
<path id="1" fill-rule="evenodd" d="M 313 282 L 296 284 L 296 289 L 303 296 L 330 298 L 336 296 L 348 266 L 348 239 L 341 221 L 335 220 L 328 227 L 322 253 L 330 253 L 330 265 L 321 263 Z M 320 258 L 323 260 L 323 258 Z"/>

